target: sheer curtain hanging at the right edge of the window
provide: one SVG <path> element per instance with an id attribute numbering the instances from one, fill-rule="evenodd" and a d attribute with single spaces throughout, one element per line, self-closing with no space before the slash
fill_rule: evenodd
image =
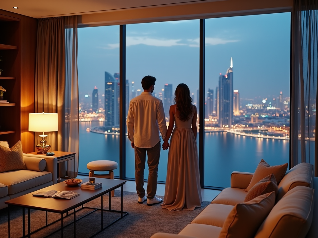
<path id="1" fill-rule="evenodd" d="M 316 101 L 318 1 L 294 0 L 292 19 L 291 167 L 315 164 L 318 175 Z"/>

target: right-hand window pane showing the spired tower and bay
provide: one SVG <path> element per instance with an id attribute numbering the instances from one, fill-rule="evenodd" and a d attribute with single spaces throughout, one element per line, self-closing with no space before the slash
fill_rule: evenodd
<path id="1" fill-rule="evenodd" d="M 205 20 L 204 185 L 289 162 L 290 13 Z"/>

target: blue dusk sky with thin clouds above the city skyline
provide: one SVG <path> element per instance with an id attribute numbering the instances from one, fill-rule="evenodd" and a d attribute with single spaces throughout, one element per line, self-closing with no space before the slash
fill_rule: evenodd
<path id="1" fill-rule="evenodd" d="M 205 91 L 233 57 L 233 89 L 241 98 L 289 96 L 290 13 L 224 17 L 205 21 Z M 119 26 L 78 29 L 80 98 L 105 90 L 104 72 L 119 72 Z M 126 25 L 126 78 L 142 89 L 143 76 L 199 87 L 199 20 Z M 131 84 L 130 84 L 131 90 Z"/>

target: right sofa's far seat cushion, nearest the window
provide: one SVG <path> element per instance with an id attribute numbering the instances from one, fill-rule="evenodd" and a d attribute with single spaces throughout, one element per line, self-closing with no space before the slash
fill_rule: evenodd
<path id="1" fill-rule="evenodd" d="M 244 202 L 247 192 L 241 188 L 225 188 L 211 203 L 236 205 Z"/>

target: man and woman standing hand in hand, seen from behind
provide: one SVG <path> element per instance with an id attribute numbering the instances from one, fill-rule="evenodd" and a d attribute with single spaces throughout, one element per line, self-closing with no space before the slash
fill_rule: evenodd
<path id="1" fill-rule="evenodd" d="M 162 101 L 152 95 L 155 82 L 153 76 L 142 78 L 144 91 L 130 101 L 127 116 L 128 139 L 135 149 L 138 203 L 147 201 L 147 205 L 151 206 L 162 202 L 161 198 L 155 196 L 161 150 L 160 132 L 162 149 L 169 149 L 166 188 L 161 206 L 169 211 L 194 210 L 201 207 L 202 202 L 197 153 L 197 108 L 192 105 L 188 86 L 180 83 L 175 91 L 175 104 L 169 109 L 167 129 Z M 147 197 L 143 188 L 146 154 L 149 167 Z"/>

